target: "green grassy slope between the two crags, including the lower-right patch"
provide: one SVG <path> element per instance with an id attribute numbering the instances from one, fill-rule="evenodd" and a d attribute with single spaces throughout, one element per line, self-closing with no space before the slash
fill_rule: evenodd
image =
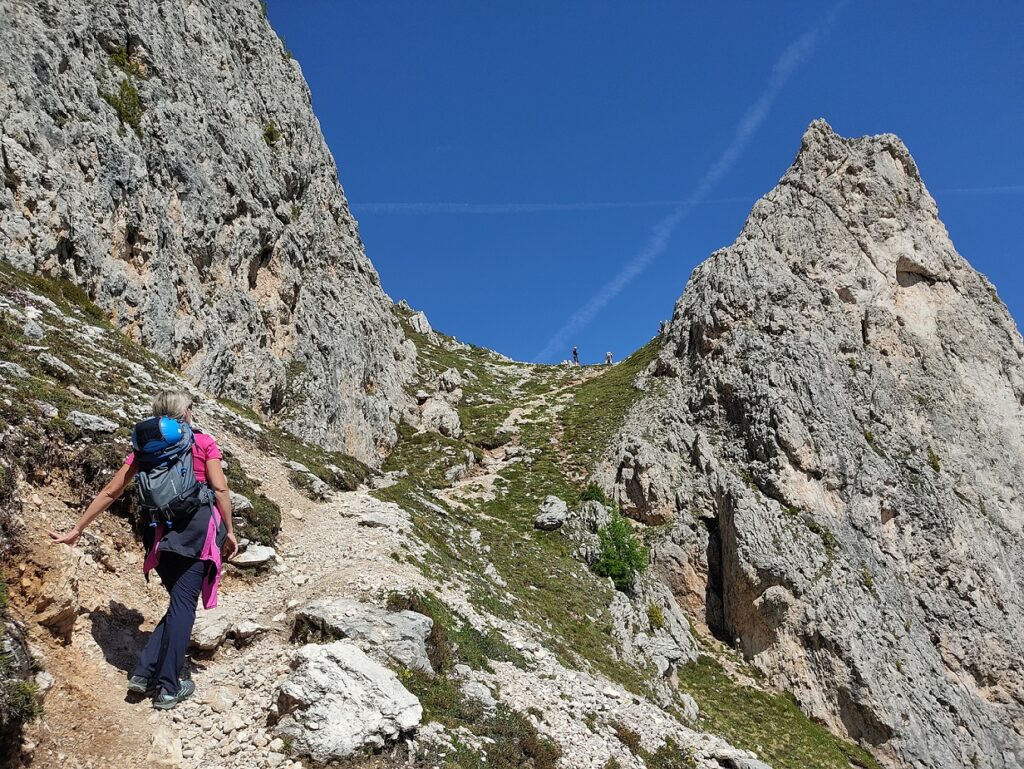
<path id="1" fill-rule="evenodd" d="M 410 337 L 418 346 L 423 385 L 447 368 L 477 375 L 467 383 L 469 405 L 460 410 L 465 438 L 415 434 L 404 428 L 387 467 L 406 469 L 409 477 L 378 493 L 411 511 L 417 533 L 431 549 L 421 567 L 435 579 L 458 576 L 469 586 L 471 600 L 482 611 L 541 629 L 565 664 L 591 667 L 629 689 L 644 692 L 649 672 L 624 664 L 613 652 L 607 581 L 595 578 L 577 561 L 563 538 L 535 531 L 532 520 L 538 504 L 548 494 L 570 505 L 578 502 L 589 468 L 640 395 L 633 381 L 656 355 L 657 340 L 574 386 L 559 414 L 541 408 L 527 415 L 535 419 L 522 425 L 521 442 L 530 448 L 531 463 L 506 468 L 495 500 L 472 510 L 456 510 L 430 494 L 446 485 L 444 470 L 462 461 L 465 451 L 486 447 L 479 436 L 493 435 L 513 408 L 545 393 L 552 397 L 556 389 L 571 383 L 575 372 L 498 364 L 486 350 L 453 350 L 423 335 L 410 333 Z M 507 370 L 504 375 L 503 368 Z M 480 532 L 481 545 L 490 548 L 486 559 L 470 544 L 473 528 Z M 487 560 L 508 584 L 501 593 L 482 576 Z M 757 677 L 755 670 L 749 672 Z M 700 728 L 757 752 L 776 769 L 879 766 L 865 751 L 811 723 L 791 697 L 736 683 L 712 656 L 703 655 L 682 669 L 680 688 L 700 706 Z M 458 718 L 453 724 L 457 723 Z"/>

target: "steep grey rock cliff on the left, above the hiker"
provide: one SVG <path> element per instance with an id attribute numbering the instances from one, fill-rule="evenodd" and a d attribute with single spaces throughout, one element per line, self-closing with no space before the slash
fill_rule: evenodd
<path id="1" fill-rule="evenodd" d="M 0 27 L 2 258 L 376 463 L 414 361 L 259 3 L 4 2 Z"/>

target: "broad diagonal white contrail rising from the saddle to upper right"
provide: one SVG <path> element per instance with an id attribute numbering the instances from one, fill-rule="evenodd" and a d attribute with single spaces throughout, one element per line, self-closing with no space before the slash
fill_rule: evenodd
<path id="1" fill-rule="evenodd" d="M 572 313 L 569 319 L 560 328 L 544 348 L 534 357 L 535 361 L 544 360 L 554 355 L 559 350 L 566 347 L 566 342 L 572 334 L 581 331 L 594 319 L 594 316 L 614 299 L 623 289 L 640 274 L 644 268 L 668 248 L 672 233 L 679 223 L 699 205 L 711 191 L 712 187 L 728 173 L 735 164 L 743 149 L 751 142 L 754 133 L 764 123 L 768 117 L 775 98 L 779 91 L 785 86 L 794 71 L 803 63 L 813 52 L 818 40 L 827 32 L 839 15 L 840 10 L 846 4 L 846 0 L 836 5 L 825 18 L 814 29 L 805 32 L 797 40 L 786 46 L 781 55 L 772 67 L 771 78 L 768 80 L 768 87 L 746 111 L 742 119 L 736 126 L 736 132 L 732 141 L 719 156 L 718 160 L 709 168 L 697 180 L 693 191 L 682 201 L 676 209 L 662 219 L 651 230 L 644 247 L 631 259 L 622 271 L 612 277 L 604 288 L 597 292 L 585 305 Z"/>

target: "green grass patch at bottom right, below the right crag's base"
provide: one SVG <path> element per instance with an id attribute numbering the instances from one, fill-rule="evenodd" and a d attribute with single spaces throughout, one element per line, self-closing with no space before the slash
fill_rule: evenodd
<path id="1" fill-rule="evenodd" d="M 775 769 L 881 769 L 867 751 L 812 723 L 791 696 L 737 684 L 709 656 L 680 668 L 679 683 L 700 708 L 701 729 Z"/>

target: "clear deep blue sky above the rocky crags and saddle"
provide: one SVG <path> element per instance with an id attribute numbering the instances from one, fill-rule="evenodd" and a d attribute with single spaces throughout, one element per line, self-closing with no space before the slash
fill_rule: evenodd
<path id="1" fill-rule="evenodd" d="M 817 117 L 903 138 L 1020 321 L 1024 3 L 853 0 L 828 27 L 829 7 L 270 0 L 269 17 L 385 290 L 460 339 L 534 359 L 674 210 L 589 204 L 686 200 L 703 179 L 664 249 L 544 358 L 628 354 Z"/>

